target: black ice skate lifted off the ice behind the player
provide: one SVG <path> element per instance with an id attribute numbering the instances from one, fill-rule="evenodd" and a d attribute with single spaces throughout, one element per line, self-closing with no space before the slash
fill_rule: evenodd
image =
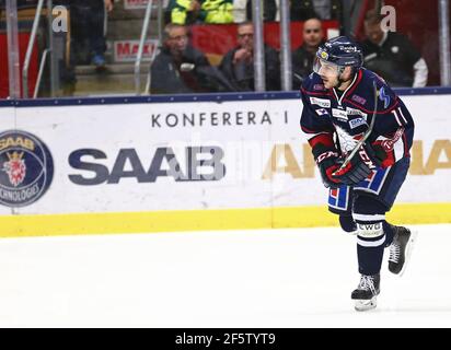
<path id="1" fill-rule="evenodd" d="M 410 257 L 416 233 L 403 226 L 393 226 L 393 230 L 395 234 L 390 245 L 389 270 L 402 276 Z"/>

